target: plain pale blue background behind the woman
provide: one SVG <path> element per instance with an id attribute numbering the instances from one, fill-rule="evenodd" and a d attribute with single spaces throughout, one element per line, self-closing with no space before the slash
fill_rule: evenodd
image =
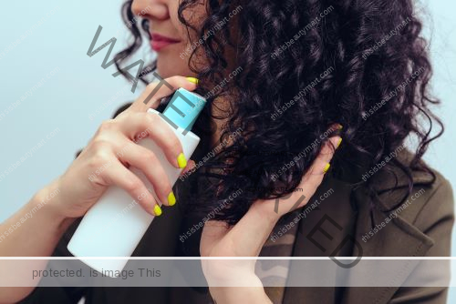
<path id="1" fill-rule="evenodd" d="M 0 181 L 0 221 L 25 204 L 37 189 L 62 174 L 100 122 L 111 117 L 119 105 L 134 99 L 130 91 L 123 90 L 122 95 L 93 120 L 89 119 L 98 106 L 112 100 L 127 84 L 120 76 L 111 76 L 114 67 L 106 70 L 100 67 L 105 50 L 91 58 L 87 56 L 98 25 L 103 26 L 98 41 L 105 42 L 116 36 L 115 51 L 125 45 L 128 35 L 120 21 L 120 5 L 121 0 L 26 0 L 3 4 L 0 53 L 52 9 L 58 8 L 56 14 L 36 26 L 19 45 L 4 56 L 0 55 L 0 113 L 51 70 L 58 67 L 59 71 L 33 96 L 27 97 L 4 119 L 0 118 L 0 172 L 23 157 L 50 131 L 58 127 L 60 132 Z M 427 0 L 420 7 L 427 25 L 426 33 L 431 37 L 435 70 L 433 91 L 443 102 L 436 113 L 446 124 L 445 135 L 430 147 L 425 159 L 456 189 L 453 144 L 456 130 L 456 4 L 453 0 Z M 148 49 L 144 48 L 140 56 L 149 58 Z M 142 86 L 139 86 L 137 92 L 141 90 Z M 454 234 L 453 237 L 456 238 Z M 455 243 L 453 241 L 453 248 Z M 456 302 L 452 293 L 449 302 Z"/>

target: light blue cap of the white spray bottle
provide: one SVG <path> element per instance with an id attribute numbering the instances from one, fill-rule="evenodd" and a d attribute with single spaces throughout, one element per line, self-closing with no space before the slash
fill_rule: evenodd
<path id="1" fill-rule="evenodd" d="M 169 123 L 189 131 L 205 104 L 204 97 L 181 87 L 171 97 L 163 116 L 168 118 Z"/>

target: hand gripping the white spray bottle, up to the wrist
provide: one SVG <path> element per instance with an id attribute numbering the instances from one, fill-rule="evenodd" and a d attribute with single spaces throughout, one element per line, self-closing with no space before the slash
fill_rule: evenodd
<path id="1" fill-rule="evenodd" d="M 189 91 L 196 88 L 192 80 L 183 76 L 165 80 L 176 88 L 183 87 Z M 157 157 L 149 149 L 137 144 L 141 138 L 149 137 L 161 147 L 173 167 L 186 167 L 178 138 L 160 117 L 147 113 L 149 108 L 159 106 L 162 97 L 172 93 L 168 86 L 161 86 L 150 101 L 144 104 L 156 86 L 157 84 L 147 86 L 140 98 L 127 110 L 115 119 L 105 121 L 65 174 L 49 186 L 49 191 L 59 188 L 58 199 L 52 203 L 62 217 L 83 216 L 111 185 L 121 187 L 132 199 L 140 198 L 138 203 L 151 215 L 160 215 L 158 202 L 140 178 L 129 170 L 130 167 L 140 169 L 150 180 L 161 203 L 175 203 L 170 181 Z"/>

